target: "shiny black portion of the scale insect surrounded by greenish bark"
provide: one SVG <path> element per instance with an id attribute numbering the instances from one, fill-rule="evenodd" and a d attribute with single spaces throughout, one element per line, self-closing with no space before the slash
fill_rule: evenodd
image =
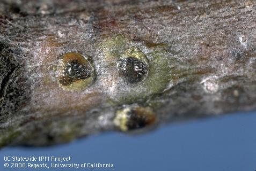
<path id="1" fill-rule="evenodd" d="M 118 64 L 119 74 L 129 83 L 140 82 L 148 73 L 148 65 L 134 57 L 121 58 Z"/>

